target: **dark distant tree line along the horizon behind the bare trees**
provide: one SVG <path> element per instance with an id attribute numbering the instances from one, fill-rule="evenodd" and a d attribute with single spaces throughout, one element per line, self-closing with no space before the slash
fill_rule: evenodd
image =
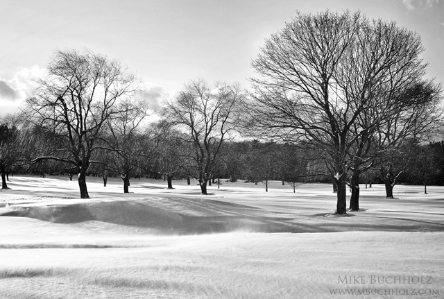
<path id="1" fill-rule="evenodd" d="M 56 135 L 39 127 L 19 130 L 3 122 L 0 125 L 0 136 L 3 189 L 8 188 L 6 178 L 10 173 L 33 173 L 39 176 L 63 174 L 71 179 L 78 176 L 69 164 L 53 159 L 33 158 L 39 151 L 54 151 L 53 146 L 59 146 Z M 118 142 L 115 135 L 107 139 L 115 144 Z M 107 146 L 110 143 L 103 142 Z M 187 135 L 174 130 L 171 123 L 164 120 L 152 123 L 139 133 L 137 144 L 133 144 L 127 151 L 117 150 L 115 144 L 109 148 L 101 146 L 97 155 L 92 157 L 95 162 L 85 173 L 86 176 L 103 178 L 105 186 L 108 177 L 121 178 L 124 192 L 128 192 L 130 178 L 164 178 L 167 187 L 173 188 L 172 180 L 198 177 L 198 172 L 193 172 L 194 166 L 190 167 L 192 163 L 189 156 L 194 152 L 190 151 Z M 322 157 L 307 148 L 295 144 L 261 142 L 258 139 L 225 142 L 214 160 L 213 169 L 208 179 L 210 184 L 216 183 L 218 179 L 230 182 L 242 180 L 255 185 L 260 182 L 266 191 L 270 182 L 291 186 L 306 182 L 332 182 Z M 375 163 L 363 176 L 363 182 L 370 185 L 384 183 L 387 173 L 395 178 L 391 181 L 391 184 L 393 181 L 395 183 L 392 189 L 396 184 L 444 185 L 444 142 L 407 144 L 391 160 Z"/>

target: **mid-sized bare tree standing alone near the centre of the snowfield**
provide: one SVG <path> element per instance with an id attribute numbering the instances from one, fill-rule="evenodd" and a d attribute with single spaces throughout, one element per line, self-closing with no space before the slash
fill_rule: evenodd
<path id="1" fill-rule="evenodd" d="M 244 92 L 239 85 L 221 83 L 211 89 L 203 80 L 185 85 L 174 101 L 167 103 L 164 117 L 185 130 L 190 148 L 187 169 L 198 180 L 202 194 L 212 177 L 221 144 L 237 128 Z"/>

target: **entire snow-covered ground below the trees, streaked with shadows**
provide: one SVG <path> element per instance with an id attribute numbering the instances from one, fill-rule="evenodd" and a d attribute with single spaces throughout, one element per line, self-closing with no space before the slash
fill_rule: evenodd
<path id="1" fill-rule="evenodd" d="M 0 298 L 444 298 L 444 187 L 14 176 L 0 190 Z"/>

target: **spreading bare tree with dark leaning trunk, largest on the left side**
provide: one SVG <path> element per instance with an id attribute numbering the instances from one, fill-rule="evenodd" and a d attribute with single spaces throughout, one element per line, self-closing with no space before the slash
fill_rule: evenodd
<path id="1" fill-rule="evenodd" d="M 89 198 L 85 176 L 96 141 L 105 122 L 119 113 L 117 103 L 133 96 L 135 76 L 120 62 L 91 51 L 56 51 L 47 69 L 24 113 L 63 142 L 33 162 L 65 162 L 78 173 L 80 198 Z"/>

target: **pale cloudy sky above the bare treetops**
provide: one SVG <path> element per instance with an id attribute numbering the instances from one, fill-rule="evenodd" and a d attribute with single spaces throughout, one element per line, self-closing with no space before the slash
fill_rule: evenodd
<path id="1" fill-rule="evenodd" d="M 361 10 L 416 31 L 429 77 L 444 83 L 444 0 L 1 0 L 0 114 L 30 94 L 56 49 L 118 58 L 153 103 L 197 78 L 248 87 L 264 38 L 296 10 L 326 9 Z"/>

